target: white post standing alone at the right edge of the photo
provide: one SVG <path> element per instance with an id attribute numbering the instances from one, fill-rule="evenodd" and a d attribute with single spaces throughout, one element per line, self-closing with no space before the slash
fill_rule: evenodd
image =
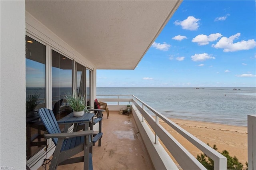
<path id="1" fill-rule="evenodd" d="M 256 170 L 256 115 L 247 116 L 248 170 Z"/>

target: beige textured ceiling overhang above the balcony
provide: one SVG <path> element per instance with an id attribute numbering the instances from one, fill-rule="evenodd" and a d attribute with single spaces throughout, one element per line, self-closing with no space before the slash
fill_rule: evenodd
<path id="1" fill-rule="evenodd" d="M 26 11 L 97 69 L 135 69 L 180 0 L 26 0 Z"/>

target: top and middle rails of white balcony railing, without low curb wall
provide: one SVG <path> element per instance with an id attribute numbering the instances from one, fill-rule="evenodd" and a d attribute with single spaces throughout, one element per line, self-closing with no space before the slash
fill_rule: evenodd
<path id="1" fill-rule="evenodd" d="M 182 169 L 206 169 L 198 160 L 184 148 L 167 130 L 165 130 L 160 124 L 159 119 L 162 119 L 167 125 L 176 130 L 189 142 L 194 144 L 198 149 L 200 149 L 204 154 L 209 156 L 214 160 L 214 170 L 226 170 L 227 160 L 226 157 L 178 126 L 176 123 L 170 121 L 164 115 L 135 97 L 134 95 L 97 95 L 97 97 L 104 96 L 104 98 L 98 98 L 100 101 L 117 102 L 128 102 L 132 105 L 134 111 L 139 112 L 141 117 L 139 118 L 141 122 L 146 122 L 155 132 L 154 143 L 159 144 L 159 139 L 162 141 L 167 150 L 176 159 L 178 164 Z M 124 98 L 128 97 L 128 98 Z M 150 113 L 149 113 L 150 112 Z M 153 117 L 153 116 L 154 117 Z"/>

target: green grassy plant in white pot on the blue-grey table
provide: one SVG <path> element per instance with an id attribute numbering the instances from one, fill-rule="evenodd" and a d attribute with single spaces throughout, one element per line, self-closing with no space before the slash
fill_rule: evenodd
<path id="1" fill-rule="evenodd" d="M 64 97 L 68 102 L 69 106 L 73 109 L 74 117 L 80 117 L 84 115 L 84 111 L 89 112 L 85 105 L 85 96 L 79 94 L 68 94 Z"/>

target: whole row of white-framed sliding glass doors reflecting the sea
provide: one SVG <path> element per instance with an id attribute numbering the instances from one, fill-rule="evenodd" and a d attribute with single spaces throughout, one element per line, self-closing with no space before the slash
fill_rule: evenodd
<path id="1" fill-rule="evenodd" d="M 39 161 L 46 147 L 44 125 L 39 119 L 38 109 L 52 109 L 57 120 L 68 115 L 72 109 L 65 95 L 76 92 L 86 96 L 86 105 L 91 106 L 92 71 L 76 63 L 74 56 L 40 40 L 26 36 L 26 152 L 28 162 Z M 62 127 L 61 127 L 62 128 Z M 52 147 L 52 142 L 49 148 Z"/>

